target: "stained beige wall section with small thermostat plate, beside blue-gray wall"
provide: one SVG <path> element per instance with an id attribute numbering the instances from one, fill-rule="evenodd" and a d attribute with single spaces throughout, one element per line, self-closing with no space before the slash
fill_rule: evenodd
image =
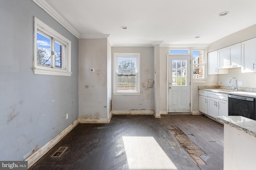
<path id="1" fill-rule="evenodd" d="M 108 39 L 79 39 L 79 117 L 108 118 Z M 110 61 L 108 61 L 110 59 Z M 94 68 L 94 72 L 90 72 Z M 111 76 L 111 75 L 110 75 Z"/>

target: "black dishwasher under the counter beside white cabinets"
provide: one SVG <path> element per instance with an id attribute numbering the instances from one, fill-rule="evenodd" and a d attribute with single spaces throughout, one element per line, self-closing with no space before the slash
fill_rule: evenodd
<path id="1" fill-rule="evenodd" d="M 228 115 L 244 116 L 255 120 L 255 98 L 228 95 Z"/>

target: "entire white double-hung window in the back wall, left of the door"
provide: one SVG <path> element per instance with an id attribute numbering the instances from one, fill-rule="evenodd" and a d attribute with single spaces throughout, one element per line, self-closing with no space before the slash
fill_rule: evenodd
<path id="1" fill-rule="evenodd" d="M 114 95 L 140 95 L 140 53 L 114 53 Z"/>

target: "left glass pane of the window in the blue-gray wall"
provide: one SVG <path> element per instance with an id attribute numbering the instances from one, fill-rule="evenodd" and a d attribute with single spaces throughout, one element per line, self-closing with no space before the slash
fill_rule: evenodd
<path id="1" fill-rule="evenodd" d="M 37 64 L 51 67 L 51 39 L 37 33 Z"/>

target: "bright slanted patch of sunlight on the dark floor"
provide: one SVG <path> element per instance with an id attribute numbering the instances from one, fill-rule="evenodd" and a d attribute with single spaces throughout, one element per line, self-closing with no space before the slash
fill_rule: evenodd
<path id="1" fill-rule="evenodd" d="M 177 170 L 154 137 L 122 137 L 130 170 Z"/>

